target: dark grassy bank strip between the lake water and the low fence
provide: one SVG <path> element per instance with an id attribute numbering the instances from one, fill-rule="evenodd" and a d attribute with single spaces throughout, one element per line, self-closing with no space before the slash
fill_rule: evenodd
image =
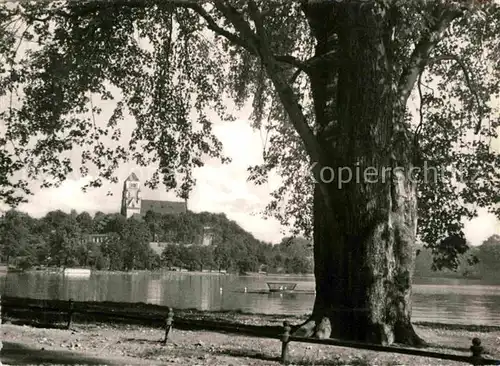
<path id="1" fill-rule="evenodd" d="M 2 318 L 17 321 L 30 319 L 66 319 L 68 301 L 46 300 L 1 296 Z M 102 322 L 109 324 L 162 324 L 168 313 L 169 307 L 128 302 L 97 302 L 97 301 L 73 301 L 75 314 L 74 322 Z M 59 309 L 61 314 L 50 314 L 44 308 Z M 222 326 L 249 326 L 255 329 L 276 330 L 281 329 L 284 321 L 292 325 L 298 325 L 307 320 L 309 314 L 264 314 L 252 313 L 241 310 L 199 310 L 199 309 L 173 309 L 174 322 L 183 324 L 185 328 L 204 327 L 209 329 L 216 324 Z M 121 318 L 123 316 L 123 318 Z M 468 331 L 468 332 L 500 332 L 499 325 L 487 324 L 460 324 L 442 323 L 429 321 L 412 322 L 421 328 L 440 329 L 444 331 Z M 500 339 L 499 339 L 500 341 Z"/>

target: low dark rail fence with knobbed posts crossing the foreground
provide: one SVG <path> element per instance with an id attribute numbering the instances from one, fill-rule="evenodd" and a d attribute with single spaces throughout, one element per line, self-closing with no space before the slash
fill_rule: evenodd
<path id="1" fill-rule="evenodd" d="M 158 316 L 151 315 L 142 315 L 141 314 L 130 314 L 126 312 L 119 311 L 111 311 L 111 310 L 91 310 L 84 309 L 81 306 L 75 307 L 75 302 L 70 299 L 67 302 L 64 301 L 52 301 L 52 303 L 57 302 L 58 305 L 44 306 L 44 300 L 34 300 L 34 299 L 20 299 L 20 298 L 1 298 L 0 301 L 0 313 L 3 317 L 5 312 L 10 312 L 12 310 L 30 310 L 37 311 L 43 313 L 58 313 L 66 315 L 66 328 L 69 329 L 71 327 L 71 323 L 73 321 L 73 315 L 75 313 L 85 314 L 85 315 L 104 315 L 111 318 L 122 318 L 122 319 L 143 319 L 143 320 L 161 320 Z M 66 306 L 61 306 L 62 304 L 66 304 Z M 85 304 L 85 303 L 80 303 Z M 168 341 L 168 337 L 171 329 L 174 325 L 174 312 L 172 308 L 166 308 L 167 312 L 164 313 L 163 322 L 164 322 L 164 330 L 165 335 L 163 337 L 163 344 L 166 344 Z M 1 321 L 1 320 L 0 320 Z M 419 349 L 410 349 L 410 348 L 402 348 L 402 347 L 394 347 L 394 346 L 382 346 L 377 344 L 369 344 L 369 343 L 360 343 L 360 342 L 350 342 L 339 339 L 317 339 L 317 338 L 306 338 L 306 337 L 296 337 L 291 335 L 291 325 L 289 322 L 284 322 L 283 329 L 281 334 L 271 334 L 270 332 L 264 332 L 261 329 L 251 326 L 236 326 L 231 324 L 217 324 L 216 322 L 207 322 L 207 321 L 186 321 L 179 319 L 177 322 L 183 324 L 184 329 L 186 328 L 195 328 L 195 329 L 208 329 L 213 331 L 223 331 L 227 333 L 233 333 L 238 335 L 248 335 L 254 337 L 265 337 L 265 338 L 274 338 L 281 340 L 281 363 L 288 364 L 290 362 L 289 359 L 289 349 L 291 342 L 302 342 L 302 343 L 312 343 L 312 344 L 320 344 L 320 345 L 332 345 L 337 347 L 345 347 L 345 348 L 355 348 L 376 352 L 388 352 L 388 353 L 398 353 L 405 354 L 410 356 L 419 356 L 419 357 L 427 357 L 427 358 L 435 358 L 441 360 L 451 360 L 456 362 L 468 363 L 471 365 L 500 365 L 500 360 L 493 360 L 486 358 L 483 355 L 483 347 L 481 346 L 481 340 L 479 338 L 474 338 L 472 340 L 472 345 L 470 346 L 471 355 L 470 356 L 461 356 L 461 355 L 453 355 L 439 352 L 431 352 L 424 351 Z"/>

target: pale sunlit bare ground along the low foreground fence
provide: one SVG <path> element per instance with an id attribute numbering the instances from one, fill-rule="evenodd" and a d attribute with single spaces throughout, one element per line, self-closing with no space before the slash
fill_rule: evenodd
<path id="1" fill-rule="evenodd" d="M 487 351 L 500 358 L 499 331 L 478 334 L 418 327 L 418 332 L 427 341 L 448 347 L 433 350 L 455 354 L 469 354 L 467 349 L 471 339 L 479 336 Z M 9 347 L 22 344 L 30 350 L 20 352 L 18 349 L 18 354 L 26 356 L 31 352 L 41 357 L 45 353 L 49 358 L 63 355 L 79 359 L 78 364 L 277 366 L 281 347 L 280 342 L 273 339 L 177 329 L 172 331 L 171 341 L 162 345 L 159 342 L 163 337 L 161 329 L 135 325 L 75 324 L 72 330 L 59 330 L 2 324 L 1 335 L 4 342 L 9 342 Z M 332 346 L 292 343 L 290 348 L 291 360 L 296 365 L 459 365 L 451 361 Z M 18 363 L 12 354 L 13 351 L 6 347 L 2 352 L 2 361 L 9 364 L 32 362 Z M 33 361 L 36 364 L 40 362 Z"/>

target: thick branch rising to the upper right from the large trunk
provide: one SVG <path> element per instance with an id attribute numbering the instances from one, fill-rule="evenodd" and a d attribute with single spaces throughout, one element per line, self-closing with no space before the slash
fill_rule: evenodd
<path id="1" fill-rule="evenodd" d="M 450 23 L 463 14 L 460 9 L 445 9 L 434 12 L 434 18 L 439 19 L 415 46 L 408 66 L 403 70 L 398 84 L 398 94 L 402 105 L 406 105 L 408 97 L 418 79 L 418 76 L 425 68 L 431 52 L 441 40 L 444 31 Z"/>

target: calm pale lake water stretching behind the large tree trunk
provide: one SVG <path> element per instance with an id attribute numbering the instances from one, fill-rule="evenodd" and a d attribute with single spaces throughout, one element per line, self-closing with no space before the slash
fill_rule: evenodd
<path id="1" fill-rule="evenodd" d="M 297 293 L 259 294 L 266 282 L 292 281 Z M 247 288 L 249 292 L 243 293 Z M 90 278 L 43 272 L 0 277 L 6 296 L 77 301 L 145 302 L 174 308 L 242 310 L 265 314 L 310 313 L 314 277 L 236 276 L 179 272 L 95 272 Z M 309 291 L 309 293 L 300 293 Z M 413 320 L 500 326 L 500 286 L 466 279 L 417 279 Z"/>

